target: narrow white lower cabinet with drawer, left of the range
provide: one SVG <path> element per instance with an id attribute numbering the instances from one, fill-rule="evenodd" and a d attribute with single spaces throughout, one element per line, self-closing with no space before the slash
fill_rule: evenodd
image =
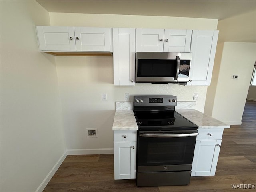
<path id="1" fill-rule="evenodd" d="M 114 131 L 114 178 L 136 178 L 136 130 Z"/>

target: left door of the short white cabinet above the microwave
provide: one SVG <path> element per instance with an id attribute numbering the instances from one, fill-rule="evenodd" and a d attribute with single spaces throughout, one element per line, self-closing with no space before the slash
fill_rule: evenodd
<path id="1" fill-rule="evenodd" d="M 136 52 L 163 52 L 164 29 L 136 29 Z"/>

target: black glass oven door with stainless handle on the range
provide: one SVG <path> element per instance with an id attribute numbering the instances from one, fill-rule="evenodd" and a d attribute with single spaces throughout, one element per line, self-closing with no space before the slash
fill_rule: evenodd
<path id="1" fill-rule="evenodd" d="M 138 131 L 137 172 L 191 170 L 194 131 Z"/>

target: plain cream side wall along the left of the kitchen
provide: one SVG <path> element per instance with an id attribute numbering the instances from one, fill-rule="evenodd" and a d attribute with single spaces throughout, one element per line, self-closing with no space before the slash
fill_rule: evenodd
<path id="1" fill-rule="evenodd" d="M 1 191 L 34 192 L 66 152 L 54 56 L 36 41 L 50 19 L 36 1 L 0 3 Z"/>

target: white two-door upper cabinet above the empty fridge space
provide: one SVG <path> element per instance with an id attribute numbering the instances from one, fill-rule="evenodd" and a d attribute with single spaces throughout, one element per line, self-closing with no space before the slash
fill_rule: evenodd
<path id="1" fill-rule="evenodd" d="M 111 28 L 36 26 L 40 51 L 112 52 Z"/>

